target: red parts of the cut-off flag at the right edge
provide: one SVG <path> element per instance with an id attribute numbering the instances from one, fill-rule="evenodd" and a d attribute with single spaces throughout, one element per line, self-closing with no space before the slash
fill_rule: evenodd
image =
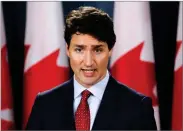
<path id="1" fill-rule="evenodd" d="M 180 49 L 182 41 L 177 42 L 176 57 Z M 181 65 L 174 72 L 174 93 L 173 93 L 173 114 L 172 114 L 172 129 L 182 130 L 182 68 Z"/>

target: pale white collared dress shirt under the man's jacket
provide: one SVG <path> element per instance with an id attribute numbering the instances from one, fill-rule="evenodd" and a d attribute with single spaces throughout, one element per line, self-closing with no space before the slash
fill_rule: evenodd
<path id="1" fill-rule="evenodd" d="M 101 81 L 91 86 L 90 88 L 86 88 L 76 81 L 74 75 L 74 103 L 73 103 L 74 114 L 79 106 L 81 100 L 81 93 L 86 89 L 92 93 L 92 95 L 90 95 L 90 97 L 88 98 L 88 105 L 90 108 L 90 117 L 91 117 L 90 130 L 92 129 L 108 81 L 109 81 L 109 72 L 107 71 L 106 76 Z"/>

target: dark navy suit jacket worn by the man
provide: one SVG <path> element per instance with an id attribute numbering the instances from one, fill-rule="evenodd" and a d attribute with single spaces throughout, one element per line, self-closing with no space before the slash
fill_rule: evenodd
<path id="1" fill-rule="evenodd" d="M 26 129 L 75 130 L 73 100 L 73 78 L 40 93 Z M 156 130 L 151 99 L 110 76 L 92 130 Z"/>

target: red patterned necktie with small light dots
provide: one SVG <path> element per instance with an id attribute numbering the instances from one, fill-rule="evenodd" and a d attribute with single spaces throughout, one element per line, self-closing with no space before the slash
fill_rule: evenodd
<path id="1" fill-rule="evenodd" d="M 87 102 L 90 95 L 88 90 L 82 92 L 82 98 L 75 113 L 76 130 L 90 130 L 90 109 Z"/>

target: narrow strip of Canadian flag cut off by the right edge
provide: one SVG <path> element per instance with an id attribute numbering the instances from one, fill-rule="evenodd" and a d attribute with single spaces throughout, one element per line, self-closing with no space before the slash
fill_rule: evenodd
<path id="1" fill-rule="evenodd" d="M 179 18 L 177 28 L 177 49 L 174 67 L 174 92 L 172 107 L 172 130 L 182 128 L 182 3 L 179 6 Z"/>

